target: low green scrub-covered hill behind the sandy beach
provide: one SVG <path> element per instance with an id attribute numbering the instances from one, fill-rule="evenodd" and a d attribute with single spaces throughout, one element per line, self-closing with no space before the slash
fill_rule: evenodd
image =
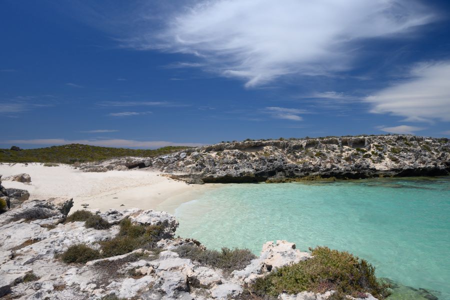
<path id="1" fill-rule="evenodd" d="M 68 144 L 36 149 L 0 149 L 0 161 L 4 162 L 46 162 L 46 166 L 55 163 L 75 163 L 99 161 L 124 156 L 154 157 L 186 149 L 183 146 L 167 146 L 155 150 L 98 147 L 83 144 Z"/>

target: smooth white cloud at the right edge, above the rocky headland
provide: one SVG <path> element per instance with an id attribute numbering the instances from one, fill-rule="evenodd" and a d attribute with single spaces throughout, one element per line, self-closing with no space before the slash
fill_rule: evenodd
<path id="1" fill-rule="evenodd" d="M 422 63 L 411 78 L 365 98 L 371 112 L 406 117 L 406 121 L 450 121 L 450 61 Z"/>

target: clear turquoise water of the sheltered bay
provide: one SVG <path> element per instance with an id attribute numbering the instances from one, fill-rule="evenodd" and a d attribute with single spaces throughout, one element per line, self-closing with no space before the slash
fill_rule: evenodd
<path id="1" fill-rule="evenodd" d="M 327 245 L 367 259 L 378 276 L 450 300 L 449 177 L 225 184 L 175 215 L 177 234 L 209 248 Z M 411 298 L 401 293 L 392 298 Z"/>

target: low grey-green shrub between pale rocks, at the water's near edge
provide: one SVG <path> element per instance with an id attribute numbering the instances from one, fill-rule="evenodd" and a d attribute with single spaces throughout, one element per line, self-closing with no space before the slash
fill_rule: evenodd
<path id="1" fill-rule="evenodd" d="M 191 244 L 181 245 L 175 251 L 180 257 L 195 260 L 203 265 L 221 268 L 226 273 L 244 268 L 251 259 L 256 257 L 249 249 L 224 247 L 217 251 L 201 249 Z"/>

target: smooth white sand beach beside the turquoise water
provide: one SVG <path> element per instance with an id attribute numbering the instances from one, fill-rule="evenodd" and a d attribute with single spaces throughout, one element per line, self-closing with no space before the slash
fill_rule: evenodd
<path id="1" fill-rule="evenodd" d="M 27 173 L 31 183 L 2 181 L 4 187 L 26 189 L 30 199 L 51 197 L 73 198 L 74 207 L 89 204 L 88 208 L 102 211 L 109 208 L 139 207 L 143 209 L 164 209 L 163 202 L 181 203 L 191 199 L 196 191 L 202 192 L 206 185 L 191 185 L 158 176 L 151 170 L 128 170 L 108 172 L 82 172 L 69 165 L 43 166 L 41 163 L 1 163 L 0 174 Z M 183 196 L 185 195 L 185 196 Z M 173 200 L 176 198 L 177 200 Z M 171 200 L 168 200 L 171 199 Z M 120 206 L 123 204 L 124 206 Z M 176 208 L 176 207 L 171 207 Z M 172 209 L 165 209 L 172 210 Z M 172 211 L 169 211 L 172 212 Z"/>

